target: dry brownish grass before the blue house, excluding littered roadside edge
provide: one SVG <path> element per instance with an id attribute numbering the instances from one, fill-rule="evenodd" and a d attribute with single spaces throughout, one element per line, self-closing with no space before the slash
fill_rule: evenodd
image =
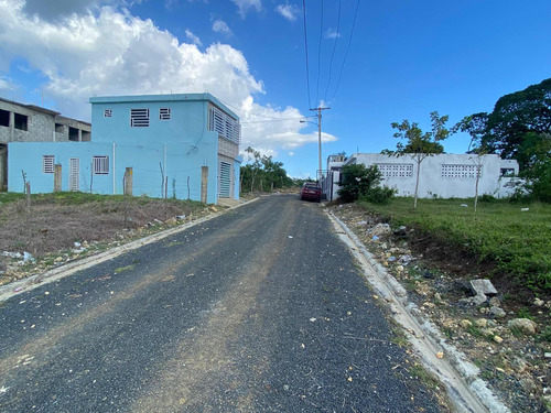
<path id="1" fill-rule="evenodd" d="M 24 199 L 0 197 L 0 253 L 29 251 L 40 258 L 74 248 L 74 242 L 109 241 L 149 222 L 198 213 L 187 200 L 102 196 L 82 193 L 36 195 L 29 213 Z"/>

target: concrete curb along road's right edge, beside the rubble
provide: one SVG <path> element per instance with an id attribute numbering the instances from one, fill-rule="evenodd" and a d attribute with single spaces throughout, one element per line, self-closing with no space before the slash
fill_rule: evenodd
<path id="1" fill-rule="evenodd" d="M 327 210 L 327 215 L 341 240 L 361 263 L 366 280 L 388 304 L 395 320 L 404 328 L 424 367 L 446 387 L 457 411 L 510 413 L 478 377 L 479 369 L 467 361 L 462 351 L 446 343 L 439 328 L 423 317 L 415 304 L 408 301 L 403 286 L 377 262 L 356 235 L 332 211 Z M 444 357 L 437 358 L 439 352 L 443 352 Z"/>

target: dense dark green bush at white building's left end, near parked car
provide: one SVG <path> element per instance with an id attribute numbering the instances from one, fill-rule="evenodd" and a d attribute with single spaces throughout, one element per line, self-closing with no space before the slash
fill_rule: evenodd
<path id="1" fill-rule="evenodd" d="M 382 174 L 379 172 L 377 165 L 369 167 L 363 164 L 344 165 L 341 176 L 342 184 L 341 189 L 338 189 L 338 196 L 345 203 L 357 200 L 382 180 Z"/>

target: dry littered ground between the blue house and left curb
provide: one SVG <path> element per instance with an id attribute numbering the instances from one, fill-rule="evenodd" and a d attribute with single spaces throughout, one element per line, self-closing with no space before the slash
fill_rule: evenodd
<path id="1" fill-rule="evenodd" d="M 215 213 L 176 199 L 48 194 L 0 205 L 0 285 Z"/>

